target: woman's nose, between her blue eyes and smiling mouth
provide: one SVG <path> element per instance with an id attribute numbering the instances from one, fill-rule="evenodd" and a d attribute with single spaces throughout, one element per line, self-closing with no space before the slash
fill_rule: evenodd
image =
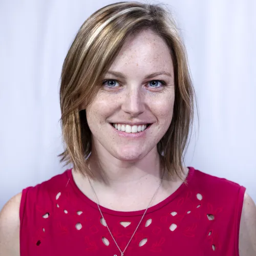
<path id="1" fill-rule="evenodd" d="M 121 109 L 133 117 L 144 112 L 144 95 L 139 88 L 131 87 L 127 89 Z"/>

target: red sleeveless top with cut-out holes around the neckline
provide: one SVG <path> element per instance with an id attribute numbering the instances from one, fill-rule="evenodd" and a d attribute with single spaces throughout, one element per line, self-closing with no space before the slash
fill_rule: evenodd
<path id="1" fill-rule="evenodd" d="M 237 183 L 189 167 L 187 185 L 148 208 L 124 256 L 239 255 L 244 193 L 245 187 Z M 144 210 L 101 210 L 123 250 Z M 20 256 L 115 254 L 121 253 L 97 204 L 76 186 L 71 169 L 23 190 Z"/>

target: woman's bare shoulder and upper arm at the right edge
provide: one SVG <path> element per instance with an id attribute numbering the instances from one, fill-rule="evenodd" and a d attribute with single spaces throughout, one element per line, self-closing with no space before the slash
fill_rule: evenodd
<path id="1" fill-rule="evenodd" d="M 256 206 L 245 193 L 239 233 L 239 255 L 256 255 Z"/>

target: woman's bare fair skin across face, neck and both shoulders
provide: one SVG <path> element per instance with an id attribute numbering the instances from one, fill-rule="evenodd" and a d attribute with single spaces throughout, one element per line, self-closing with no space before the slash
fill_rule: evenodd
<path id="1" fill-rule="evenodd" d="M 173 115 L 172 58 L 160 37 L 152 31 L 143 31 L 127 39 L 110 71 L 121 72 L 126 78 L 106 76 L 106 79 L 117 80 L 114 82 L 116 87 L 103 85 L 87 108 L 93 138 L 89 164 L 98 174 L 92 183 L 102 206 L 124 211 L 139 210 L 146 208 L 162 175 L 156 146 Z M 144 79 L 157 71 L 169 72 L 171 76 Z M 152 80 L 163 80 L 166 86 L 152 89 L 155 84 Z M 110 124 L 125 121 L 145 121 L 152 125 L 143 138 L 125 138 L 119 136 Z M 100 166 L 96 164 L 98 162 Z M 94 200 L 88 180 L 77 172 L 73 172 L 73 176 L 80 190 Z M 180 184 L 179 179 L 169 180 L 165 175 L 153 205 L 172 194 Z M 21 194 L 13 197 L 0 214 L 0 255 L 19 255 L 20 198 Z M 255 255 L 255 241 L 256 207 L 245 194 L 240 224 L 240 256 Z"/>

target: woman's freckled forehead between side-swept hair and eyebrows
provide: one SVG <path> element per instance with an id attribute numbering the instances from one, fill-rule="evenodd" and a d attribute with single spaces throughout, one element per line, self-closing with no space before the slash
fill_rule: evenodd
<path id="1" fill-rule="evenodd" d="M 172 56 L 160 36 L 145 30 L 125 40 L 110 70 L 127 75 L 157 71 L 173 73 Z"/>

